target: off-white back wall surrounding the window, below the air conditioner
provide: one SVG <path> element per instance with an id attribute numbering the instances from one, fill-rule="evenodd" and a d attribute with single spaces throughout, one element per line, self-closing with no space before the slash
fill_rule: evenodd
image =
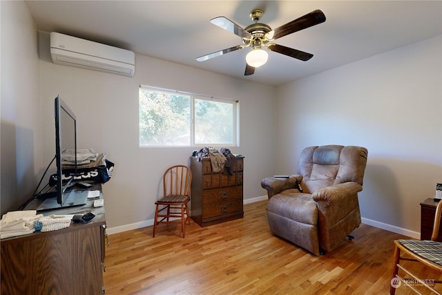
<path id="1" fill-rule="evenodd" d="M 273 86 L 142 55 L 136 55 L 133 78 L 61 66 L 50 61 L 48 33 L 40 39 L 44 158 L 49 161 L 55 153 L 52 104 L 60 95 L 77 115 L 79 149 L 93 147 L 115 162 L 113 178 L 104 184 L 108 227 L 119 231 L 153 224 L 162 173 L 173 164 L 189 164 L 192 151 L 200 149 L 138 146 L 140 84 L 238 99 L 240 146 L 231 151 L 245 156 L 244 199 L 265 195 L 260 181 L 273 173 L 273 142 L 263 135 L 273 131 Z"/>

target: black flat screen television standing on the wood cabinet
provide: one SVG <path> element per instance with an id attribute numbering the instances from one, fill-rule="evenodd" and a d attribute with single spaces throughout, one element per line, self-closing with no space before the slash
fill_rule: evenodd
<path id="1" fill-rule="evenodd" d="M 55 97 L 54 106 L 56 196 L 46 199 L 37 211 L 80 206 L 86 204 L 88 198 L 88 191 L 74 188 L 77 174 L 77 118 L 59 96 Z"/>

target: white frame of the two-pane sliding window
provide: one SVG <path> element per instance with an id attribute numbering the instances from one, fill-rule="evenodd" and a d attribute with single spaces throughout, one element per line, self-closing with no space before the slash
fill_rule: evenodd
<path id="1" fill-rule="evenodd" d="M 189 147 L 189 146 L 195 146 L 195 147 L 204 147 L 204 146 L 213 146 L 213 147 L 232 147 L 232 146 L 239 146 L 239 116 L 240 116 L 240 102 L 238 100 L 234 100 L 234 99 L 226 99 L 226 98 L 221 98 L 221 97 L 213 97 L 213 96 L 209 96 L 209 95 L 202 95 L 202 94 L 198 94 L 198 93 L 189 93 L 189 92 L 184 92 L 184 91 L 175 91 L 175 90 L 171 90 L 171 89 L 166 89 L 166 88 L 159 88 L 159 87 L 155 87 L 155 86 L 146 86 L 146 85 L 140 85 L 140 88 L 144 88 L 148 91 L 158 91 L 158 92 L 171 92 L 171 93 L 178 93 L 178 94 L 182 94 L 182 95 L 189 95 L 190 99 L 191 99 L 191 107 L 190 107 L 190 118 L 191 118 L 191 122 L 189 122 L 190 124 L 190 133 L 191 133 L 191 140 L 190 140 L 190 145 L 141 145 L 140 144 L 140 117 L 138 118 L 138 144 L 141 148 L 158 148 L 158 147 Z M 138 98 L 140 99 L 140 97 Z M 204 144 L 196 144 L 195 143 L 195 99 L 200 99 L 200 100 L 206 100 L 206 101 L 213 101 L 213 102 L 222 102 L 222 103 L 229 103 L 233 105 L 233 134 L 232 134 L 232 138 L 233 138 L 233 142 L 231 144 L 213 144 L 213 143 L 204 143 Z M 139 104 L 139 108 L 140 108 L 140 104 Z"/>

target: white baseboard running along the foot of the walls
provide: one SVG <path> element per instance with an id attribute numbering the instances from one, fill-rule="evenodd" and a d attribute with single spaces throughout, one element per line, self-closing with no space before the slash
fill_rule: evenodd
<path id="1" fill-rule="evenodd" d="M 244 200 L 243 204 L 251 204 L 254 202 L 260 202 L 262 200 L 267 200 L 267 195 L 256 197 L 256 198 L 251 198 L 251 199 L 246 199 L 246 200 Z M 411 238 L 416 238 L 416 239 L 421 238 L 421 233 L 419 233 L 417 231 L 410 231 L 410 229 L 403 229 L 402 227 L 388 225 L 387 223 L 379 222 L 376 220 L 371 220 L 368 218 L 361 218 L 361 219 L 365 225 L 371 225 L 372 227 L 378 227 L 379 229 L 385 229 L 386 231 L 392 231 L 396 234 L 409 236 Z M 142 227 L 150 227 L 151 225 L 153 225 L 153 219 L 135 222 L 135 223 L 131 223 L 128 225 L 122 225 L 119 227 L 108 227 L 106 229 L 106 231 L 108 234 L 118 234 L 123 231 L 130 231 L 132 229 L 140 229 Z"/>

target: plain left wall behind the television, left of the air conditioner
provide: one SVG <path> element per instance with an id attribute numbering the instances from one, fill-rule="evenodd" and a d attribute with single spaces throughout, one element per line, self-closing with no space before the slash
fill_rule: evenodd
<path id="1" fill-rule="evenodd" d="M 0 1 L 1 213 L 17 210 L 43 173 L 37 28 L 23 1 Z"/>

